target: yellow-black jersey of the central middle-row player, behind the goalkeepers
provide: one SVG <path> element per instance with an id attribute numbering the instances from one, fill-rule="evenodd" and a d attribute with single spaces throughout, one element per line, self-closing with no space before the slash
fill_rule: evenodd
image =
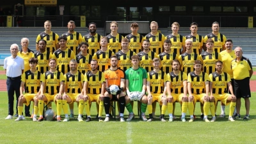
<path id="1" fill-rule="evenodd" d="M 132 67 L 131 57 L 136 55 L 135 52 L 129 50 L 128 52 L 124 53 L 122 51 L 116 52 L 117 60 L 118 60 L 118 68 L 122 70 L 127 70 Z"/>

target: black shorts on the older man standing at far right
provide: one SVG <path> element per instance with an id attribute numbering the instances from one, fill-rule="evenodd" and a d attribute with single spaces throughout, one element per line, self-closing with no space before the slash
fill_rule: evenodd
<path id="1" fill-rule="evenodd" d="M 234 95 L 236 95 L 237 98 L 251 97 L 250 77 L 241 80 L 234 79 L 234 90 Z"/>

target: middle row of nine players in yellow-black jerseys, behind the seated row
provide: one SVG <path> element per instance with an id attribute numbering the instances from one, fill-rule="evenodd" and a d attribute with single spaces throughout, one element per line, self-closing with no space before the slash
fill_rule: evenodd
<path id="1" fill-rule="evenodd" d="M 97 51 L 93 56 L 87 53 L 88 44 L 81 43 L 80 48 L 81 52 L 75 56 L 74 52 L 70 49 L 67 49 L 66 43 L 67 38 L 61 36 L 59 39 L 60 49 L 54 52 L 51 55 L 50 52 L 45 51 L 45 40 L 39 40 L 39 51 L 35 52 L 35 58 L 38 58 L 38 70 L 40 72 L 45 72 L 48 70 L 47 60 L 49 58 L 54 58 L 57 60 L 57 70 L 63 72 L 63 74 L 67 73 L 69 70 L 68 61 L 71 59 L 76 59 L 78 62 L 78 70 L 84 74 L 90 70 L 90 61 L 95 59 L 99 62 L 99 70 L 104 71 L 110 67 L 109 65 L 109 58 L 114 55 L 114 52 L 111 52 L 108 48 L 108 40 L 106 37 L 102 37 L 100 39 L 101 49 Z M 164 41 L 164 52 L 161 54 L 156 54 L 156 52 L 150 51 L 150 43 L 148 40 L 143 41 L 143 51 L 138 53 L 140 56 L 140 67 L 143 67 L 147 70 L 152 70 L 152 59 L 160 58 L 161 60 L 161 70 L 168 73 L 172 71 L 171 62 L 174 59 L 179 59 L 181 65 L 181 69 L 183 72 L 189 73 L 193 69 L 193 61 L 195 60 L 204 60 L 204 72 L 207 74 L 211 74 L 214 72 L 214 62 L 216 60 L 221 60 L 220 54 L 214 52 L 212 50 L 213 41 L 211 39 L 207 40 L 207 51 L 204 52 L 202 55 L 198 56 L 195 54 L 191 47 L 193 46 L 192 41 L 190 39 L 186 40 L 186 52 L 179 57 L 172 53 L 170 47 L 172 46 L 170 40 Z M 116 56 L 118 57 L 118 67 L 122 70 L 127 70 L 127 68 L 131 67 L 131 56 L 135 53 L 129 50 L 129 41 L 127 38 L 123 38 L 122 42 L 122 50 L 116 52 Z M 72 110 L 71 108 L 70 110 Z M 71 112 L 71 114 L 73 114 Z"/>

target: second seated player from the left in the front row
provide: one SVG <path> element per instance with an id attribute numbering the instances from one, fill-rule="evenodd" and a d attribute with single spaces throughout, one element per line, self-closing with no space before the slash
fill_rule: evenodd
<path id="1" fill-rule="evenodd" d="M 49 67 L 50 70 L 45 72 L 40 79 L 40 95 L 38 97 L 34 97 L 35 106 L 38 106 L 40 115 L 38 121 L 44 120 L 44 103 L 49 104 L 49 102 L 54 101 L 57 106 L 57 121 L 61 122 L 60 114 L 62 109 L 62 92 L 65 79 L 62 72 L 56 70 L 55 59 L 49 60 Z"/>

